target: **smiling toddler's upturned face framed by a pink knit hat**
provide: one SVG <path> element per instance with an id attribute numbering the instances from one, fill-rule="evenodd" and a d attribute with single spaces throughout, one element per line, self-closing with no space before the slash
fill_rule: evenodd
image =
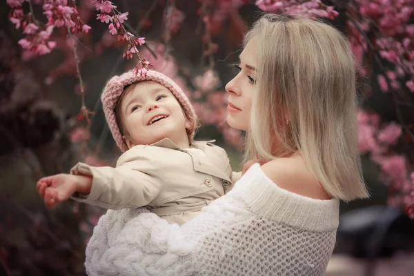
<path id="1" fill-rule="evenodd" d="M 141 82 L 128 92 L 119 108 L 128 148 L 164 138 L 188 148 L 188 122 L 177 99 L 159 83 Z"/>

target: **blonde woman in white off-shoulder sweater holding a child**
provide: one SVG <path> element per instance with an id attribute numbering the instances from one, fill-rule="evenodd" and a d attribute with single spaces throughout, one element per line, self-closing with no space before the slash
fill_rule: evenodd
<path id="1" fill-rule="evenodd" d="M 108 211 L 86 250 L 90 275 L 324 275 L 339 199 L 368 197 L 351 50 L 324 23 L 265 15 L 236 67 L 228 124 L 247 131 L 246 161 L 263 165 L 181 228 Z"/>

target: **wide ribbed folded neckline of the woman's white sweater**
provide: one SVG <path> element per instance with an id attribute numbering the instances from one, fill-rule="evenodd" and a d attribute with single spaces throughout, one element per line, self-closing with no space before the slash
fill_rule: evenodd
<path id="1" fill-rule="evenodd" d="M 280 188 L 259 164 L 246 171 L 232 192 L 253 213 L 294 228 L 323 232 L 336 230 L 339 224 L 339 199 L 312 199 Z"/>

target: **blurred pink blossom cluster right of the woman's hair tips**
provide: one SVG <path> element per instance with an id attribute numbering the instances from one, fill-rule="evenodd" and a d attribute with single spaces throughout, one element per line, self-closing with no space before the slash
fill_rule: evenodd
<path id="1" fill-rule="evenodd" d="M 401 126 L 393 122 L 383 126 L 379 115 L 359 110 L 359 152 L 369 152 L 371 160 L 380 166 L 380 179 L 393 191 L 390 202 L 414 210 L 414 179 L 408 177 L 406 157 L 391 150 L 401 135 Z M 414 172 L 411 176 L 414 176 Z M 414 213 L 411 215 L 414 217 Z"/>

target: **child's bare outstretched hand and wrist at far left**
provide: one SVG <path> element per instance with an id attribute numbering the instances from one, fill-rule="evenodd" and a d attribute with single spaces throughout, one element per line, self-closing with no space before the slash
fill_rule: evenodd
<path id="1" fill-rule="evenodd" d="M 61 201 L 69 199 L 75 192 L 89 193 L 90 186 L 92 186 L 90 177 L 61 173 L 39 179 L 37 193 L 45 201 L 46 206 L 52 208 Z"/>

